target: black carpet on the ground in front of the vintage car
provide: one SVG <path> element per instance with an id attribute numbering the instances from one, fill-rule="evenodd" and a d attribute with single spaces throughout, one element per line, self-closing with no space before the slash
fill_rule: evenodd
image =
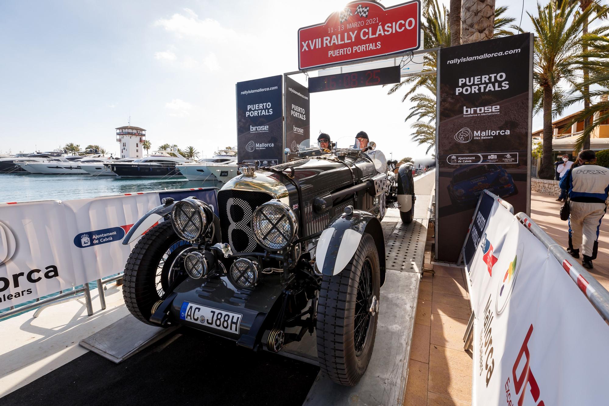
<path id="1" fill-rule="evenodd" d="M 118 365 L 88 352 L 0 405 L 301 405 L 317 372 L 182 327 Z"/>

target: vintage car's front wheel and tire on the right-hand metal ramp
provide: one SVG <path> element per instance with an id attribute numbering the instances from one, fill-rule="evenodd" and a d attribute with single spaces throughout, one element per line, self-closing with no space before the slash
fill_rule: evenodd
<path id="1" fill-rule="evenodd" d="M 364 233 L 348 265 L 323 276 L 317 305 L 317 358 L 322 373 L 354 386 L 368 368 L 375 344 L 381 277 L 375 241 Z M 370 312 L 370 307 L 375 312 Z"/>

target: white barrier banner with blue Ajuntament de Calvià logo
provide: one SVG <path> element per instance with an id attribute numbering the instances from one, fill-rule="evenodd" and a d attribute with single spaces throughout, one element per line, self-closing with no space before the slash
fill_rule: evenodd
<path id="1" fill-rule="evenodd" d="M 0 309 L 122 272 L 125 233 L 169 196 L 217 207 L 214 188 L 0 204 Z"/>

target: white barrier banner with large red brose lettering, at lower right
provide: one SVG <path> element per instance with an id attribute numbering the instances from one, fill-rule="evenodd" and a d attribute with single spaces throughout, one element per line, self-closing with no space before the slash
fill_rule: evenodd
<path id="1" fill-rule="evenodd" d="M 496 207 L 472 266 L 473 404 L 607 404 L 609 326 L 514 218 Z"/>

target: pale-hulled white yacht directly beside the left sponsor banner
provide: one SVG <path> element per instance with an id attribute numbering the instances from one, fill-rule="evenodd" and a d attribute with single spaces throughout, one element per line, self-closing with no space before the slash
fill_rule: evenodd
<path id="1" fill-rule="evenodd" d="M 228 182 L 237 176 L 237 150 L 220 149 L 211 158 L 175 166 L 188 180 L 217 180 Z"/>

